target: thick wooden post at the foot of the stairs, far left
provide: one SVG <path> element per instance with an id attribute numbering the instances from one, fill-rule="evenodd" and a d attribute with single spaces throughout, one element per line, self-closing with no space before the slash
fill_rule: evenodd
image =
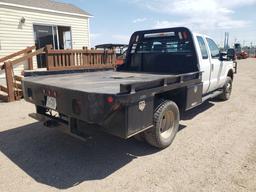
<path id="1" fill-rule="evenodd" d="M 5 77 L 6 77 L 8 101 L 12 102 L 12 101 L 15 101 L 12 63 L 9 62 L 9 61 L 5 62 L 4 63 L 4 68 L 5 68 Z"/>

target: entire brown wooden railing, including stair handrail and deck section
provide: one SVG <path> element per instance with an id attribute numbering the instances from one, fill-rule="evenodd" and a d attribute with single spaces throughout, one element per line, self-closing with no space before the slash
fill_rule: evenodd
<path id="1" fill-rule="evenodd" d="M 116 66 L 114 50 L 89 50 L 85 47 L 81 50 L 53 50 L 51 45 L 38 50 L 35 50 L 35 46 L 28 47 L 0 59 L 0 64 L 3 63 L 0 65 L 0 71 L 4 70 L 6 76 L 6 86 L 0 85 L 0 100 L 11 102 L 22 98 L 22 76 L 14 75 L 13 67 L 27 60 L 28 69 L 32 70 L 32 58 L 40 54 L 46 57 L 47 70 L 108 69 Z"/>

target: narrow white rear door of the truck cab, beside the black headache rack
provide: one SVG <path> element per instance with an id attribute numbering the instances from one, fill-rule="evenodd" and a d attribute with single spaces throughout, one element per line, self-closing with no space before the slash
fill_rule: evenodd
<path id="1" fill-rule="evenodd" d="M 202 71 L 202 81 L 203 81 L 203 94 L 206 94 L 210 87 L 210 79 L 211 79 L 211 64 L 210 57 L 207 49 L 207 45 L 205 39 L 201 35 L 196 36 L 196 40 L 198 42 L 197 50 L 198 50 L 198 60 L 200 71 Z"/>

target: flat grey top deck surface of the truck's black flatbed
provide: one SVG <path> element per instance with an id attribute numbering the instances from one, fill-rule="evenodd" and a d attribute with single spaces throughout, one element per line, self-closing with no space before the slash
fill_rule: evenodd
<path id="1" fill-rule="evenodd" d="M 119 94 L 120 85 L 147 83 L 177 75 L 161 75 L 135 72 L 98 71 L 55 75 L 42 75 L 26 78 L 35 84 L 61 87 L 64 89 L 99 94 Z"/>

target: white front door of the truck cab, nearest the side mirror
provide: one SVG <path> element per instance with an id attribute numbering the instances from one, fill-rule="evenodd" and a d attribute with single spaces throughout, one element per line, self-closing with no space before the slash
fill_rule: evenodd
<path id="1" fill-rule="evenodd" d="M 210 87 L 208 89 L 208 92 L 211 92 L 218 89 L 220 86 L 220 77 L 223 71 L 223 63 L 219 60 L 220 51 L 217 44 L 209 37 L 206 37 L 206 41 L 210 52 L 211 65 Z"/>

